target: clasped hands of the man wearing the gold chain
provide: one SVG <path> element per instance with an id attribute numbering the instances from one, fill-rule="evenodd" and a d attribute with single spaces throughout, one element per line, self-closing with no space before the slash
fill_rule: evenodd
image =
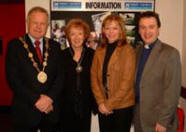
<path id="1" fill-rule="evenodd" d="M 42 94 L 40 95 L 40 98 L 35 103 L 35 107 L 41 112 L 48 113 L 49 110 L 53 109 L 52 103 L 53 100 L 50 97 Z"/>

